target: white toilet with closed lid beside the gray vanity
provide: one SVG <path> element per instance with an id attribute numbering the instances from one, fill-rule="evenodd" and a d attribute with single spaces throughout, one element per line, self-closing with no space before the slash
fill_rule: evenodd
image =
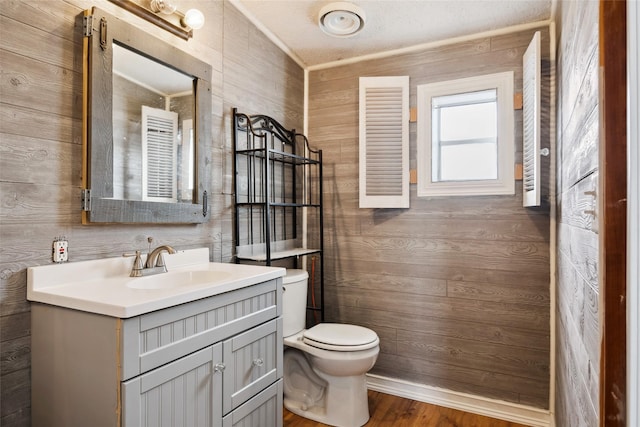
<path id="1" fill-rule="evenodd" d="M 365 374 L 380 352 L 378 335 L 356 325 L 320 323 L 305 330 L 307 279 L 283 279 L 284 406 L 324 424 L 360 427 L 369 420 Z"/>

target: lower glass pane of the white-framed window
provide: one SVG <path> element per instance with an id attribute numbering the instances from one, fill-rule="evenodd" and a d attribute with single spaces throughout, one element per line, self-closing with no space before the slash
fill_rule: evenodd
<path id="1" fill-rule="evenodd" d="M 498 179 L 496 144 L 445 145 L 440 151 L 440 166 L 440 179 L 434 181 Z"/>

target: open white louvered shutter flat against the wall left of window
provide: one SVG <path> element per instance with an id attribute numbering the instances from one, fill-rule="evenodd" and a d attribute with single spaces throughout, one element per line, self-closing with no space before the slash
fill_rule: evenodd
<path id="1" fill-rule="evenodd" d="M 360 78 L 360 207 L 409 207 L 409 77 Z"/>

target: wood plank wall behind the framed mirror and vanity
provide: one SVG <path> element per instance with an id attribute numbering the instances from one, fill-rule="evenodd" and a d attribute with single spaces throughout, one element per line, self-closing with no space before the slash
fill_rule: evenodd
<path id="1" fill-rule="evenodd" d="M 98 6 L 213 66 L 212 219 L 203 225 L 82 226 L 82 45 L 76 17 Z M 51 262 L 55 236 L 72 261 L 171 244 L 232 260 L 231 108 L 302 129 L 304 73 L 228 2 L 199 2 L 203 29 L 185 42 L 105 0 L 0 3 L 0 425 L 30 425 L 26 268 Z"/>

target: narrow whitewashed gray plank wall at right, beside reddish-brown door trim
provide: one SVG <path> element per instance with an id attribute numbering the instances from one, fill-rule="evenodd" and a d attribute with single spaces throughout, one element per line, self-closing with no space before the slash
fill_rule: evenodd
<path id="1" fill-rule="evenodd" d="M 597 1 L 560 2 L 556 425 L 599 417 Z"/>

